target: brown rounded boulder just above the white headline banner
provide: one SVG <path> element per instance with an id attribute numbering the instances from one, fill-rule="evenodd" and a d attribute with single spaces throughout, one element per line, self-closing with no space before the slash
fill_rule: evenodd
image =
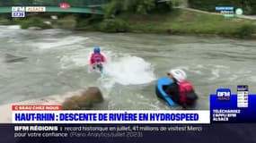
<path id="1" fill-rule="evenodd" d="M 103 101 L 100 88 L 90 87 L 66 98 L 62 107 L 64 110 L 90 110 L 93 105 Z"/>

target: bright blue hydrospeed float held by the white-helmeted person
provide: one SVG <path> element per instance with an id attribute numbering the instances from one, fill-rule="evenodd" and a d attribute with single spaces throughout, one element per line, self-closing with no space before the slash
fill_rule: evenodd
<path id="1" fill-rule="evenodd" d="M 167 102 L 168 105 L 174 106 L 175 103 L 173 102 L 172 98 L 169 97 L 165 92 L 165 88 L 167 88 L 170 84 L 172 84 L 172 79 L 169 78 L 160 78 L 156 82 L 155 86 L 155 94 L 157 97 L 162 98 Z"/>

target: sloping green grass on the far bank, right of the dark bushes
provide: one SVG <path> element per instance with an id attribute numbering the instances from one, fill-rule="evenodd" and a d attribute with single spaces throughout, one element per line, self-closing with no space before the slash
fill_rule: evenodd
<path id="1" fill-rule="evenodd" d="M 174 10 L 171 13 L 138 15 L 124 13 L 120 19 L 128 22 L 130 32 L 187 33 L 239 36 L 243 27 L 256 30 L 253 21 L 225 18 L 221 15 Z M 246 36 L 246 33 L 242 33 Z M 249 35 L 252 33 L 249 33 Z"/>

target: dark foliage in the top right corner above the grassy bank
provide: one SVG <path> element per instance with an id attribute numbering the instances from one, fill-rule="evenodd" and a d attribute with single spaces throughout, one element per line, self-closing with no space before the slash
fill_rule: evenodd
<path id="1" fill-rule="evenodd" d="M 189 0 L 190 7 L 214 12 L 216 6 L 234 6 L 243 8 L 245 14 L 256 14 L 255 0 Z"/>

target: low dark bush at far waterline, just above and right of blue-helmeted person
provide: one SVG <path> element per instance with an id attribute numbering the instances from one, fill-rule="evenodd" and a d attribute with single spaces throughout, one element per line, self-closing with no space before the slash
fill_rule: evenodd
<path id="1" fill-rule="evenodd" d="M 106 19 L 100 24 L 100 29 L 104 32 L 126 32 L 128 24 L 119 19 Z"/>

